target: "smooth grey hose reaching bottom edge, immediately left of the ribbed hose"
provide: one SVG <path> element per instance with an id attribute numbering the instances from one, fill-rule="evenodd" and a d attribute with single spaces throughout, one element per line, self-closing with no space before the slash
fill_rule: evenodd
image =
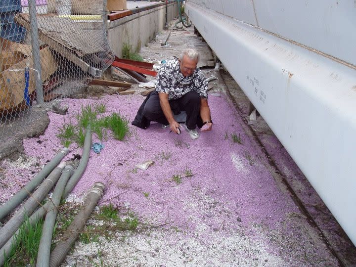
<path id="1" fill-rule="evenodd" d="M 54 188 L 51 202 L 53 203 L 55 208 L 48 211 L 45 217 L 45 223 L 42 229 L 42 236 L 40 240 L 36 267 L 47 267 L 49 265 L 50 246 L 52 243 L 53 227 L 57 217 L 57 208 L 59 206 L 64 187 L 67 184 L 68 179 L 72 175 L 73 170 L 74 168 L 72 166 L 66 166 L 57 182 L 56 187 Z"/>

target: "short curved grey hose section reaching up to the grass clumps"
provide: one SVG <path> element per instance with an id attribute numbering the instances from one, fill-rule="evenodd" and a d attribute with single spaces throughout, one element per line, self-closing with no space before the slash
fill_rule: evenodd
<path id="1" fill-rule="evenodd" d="M 91 130 L 88 127 L 87 128 L 86 137 L 84 139 L 84 147 L 83 147 L 82 159 L 81 159 L 81 161 L 80 161 L 80 163 L 78 165 L 77 170 L 74 172 L 72 177 L 69 179 L 66 187 L 64 188 L 63 195 L 67 196 L 72 191 L 74 186 L 76 186 L 76 184 L 78 183 L 79 179 L 84 174 L 84 172 L 85 172 L 85 170 L 87 168 L 87 165 L 88 165 L 90 148 L 91 148 Z"/>

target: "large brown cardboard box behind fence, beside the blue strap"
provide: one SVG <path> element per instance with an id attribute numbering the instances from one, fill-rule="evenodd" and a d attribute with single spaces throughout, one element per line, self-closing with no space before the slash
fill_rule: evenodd
<path id="1" fill-rule="evenodd" d="M 42 66 L 42 83 L 47 80 L 58 68 L 50 49 L 45 47 L 40 50 Z M 23 109 L 24 89 L 25 89 L 25 68 L 27 61 L 30 61 L 30 68 L 33 68 L 32 56 L 12 65 L 1 73 L 2 81 L 0 82 L 0 110 L 11 112 L 12 110 Z M 37 72 L 30 69 L 29 71 L 29 88 L 28 94 L 34 93 L 36 88 Z M 1 77 L 0 77 L 1 78 Z"/>

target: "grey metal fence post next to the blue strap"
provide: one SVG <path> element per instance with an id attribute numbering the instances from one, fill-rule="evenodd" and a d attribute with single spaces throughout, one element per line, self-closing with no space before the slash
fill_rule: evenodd
<path id="1" fill-rule="evenodd" d="M 34 69 L 37 70 L 36 75 L 36 94 L 37 94 L 37 104 L 44 102 L 42 80 L 41 80 L 41 58 L 40 58 L 40 45 L 39 45 L 39 35 L 37 27 L 37 11 L 36 11 L 36 0 L 28 0 L 29 13 L 30 13 L 30 33 L 31 33 L 31 45 L 32 45 L 32 58 L 34 63 Z"/>

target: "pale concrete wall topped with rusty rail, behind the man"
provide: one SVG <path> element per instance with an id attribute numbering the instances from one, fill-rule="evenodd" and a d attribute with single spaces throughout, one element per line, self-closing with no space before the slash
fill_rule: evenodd
<path id="1" fill-rule="evenodd" d="M 177 2 L 168 4 L 168 22 L 178 16 Z M 121 56 L 123 44 L 138 51 L 152 41 L 166 25 L 166 6 L 158 6 L 109 22 L 108 41 L 112 51 Z"/>

